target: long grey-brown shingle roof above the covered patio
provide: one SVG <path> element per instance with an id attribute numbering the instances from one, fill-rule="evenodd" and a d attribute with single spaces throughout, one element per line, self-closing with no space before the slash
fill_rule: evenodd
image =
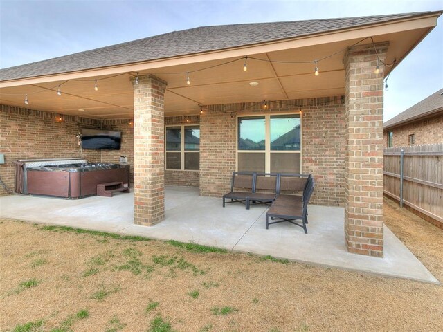
<path id="1" fill-rule="evenodd" d="M 31 64 L 4 68 L 0 70 L 0 81 L 131 64 L 211 50 L 223 50 L 406 19 L 428 15 L 429 13 L 431 12 L 192 28 Z"/>

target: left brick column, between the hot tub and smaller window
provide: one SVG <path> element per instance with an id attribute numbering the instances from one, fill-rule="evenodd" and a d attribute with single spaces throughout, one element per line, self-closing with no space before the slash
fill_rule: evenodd
<path id="1" fill-rule="evenodd" d="M 155 225 L 165 216 L 164 94 L 152 75 L 134 86 L 134 223 Z"/>

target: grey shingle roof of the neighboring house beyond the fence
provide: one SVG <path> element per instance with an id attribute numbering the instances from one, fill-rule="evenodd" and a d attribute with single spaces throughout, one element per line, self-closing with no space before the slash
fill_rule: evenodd
<path id="1" fill-rule="evenodd" d="M 386 121 L 384 123 L 384 129 L 397 127 L 401 124 L 424 118 L 425 116 L 431 116 L 440 111 L 443 111 L 443 89 L 433 93 L 413 107 L 406 109 L 406 111 L 400 113 L 398 116 Z"/>

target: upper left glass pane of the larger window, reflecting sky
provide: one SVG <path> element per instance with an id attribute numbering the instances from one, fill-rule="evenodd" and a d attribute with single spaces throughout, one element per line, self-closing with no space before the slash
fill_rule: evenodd
<path id="1" fill-rule="evenodd" d="M 264 123 L 264 116 L 239 118 L 239 150 L 264 150 Z"/>

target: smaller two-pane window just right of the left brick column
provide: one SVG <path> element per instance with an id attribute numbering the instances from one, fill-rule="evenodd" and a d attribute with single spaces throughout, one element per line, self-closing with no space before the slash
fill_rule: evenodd
<path id="1" fill-rule="evenodd" d="M 199 126 L 166 127 L 166 169 L 198 171 L 200 168 Z"/>

